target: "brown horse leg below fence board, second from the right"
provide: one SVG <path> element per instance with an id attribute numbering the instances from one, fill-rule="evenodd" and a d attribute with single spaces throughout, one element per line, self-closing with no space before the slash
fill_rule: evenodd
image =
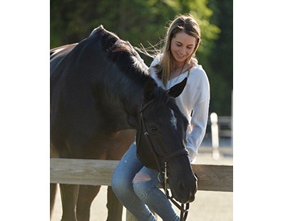
<path id="1" fill-rule="evenodd" d="M 80 185 L 77 202 L 78 221 L 88 221 L 91 214 L 91 202 L 96 197 L 101 186 Z"/>

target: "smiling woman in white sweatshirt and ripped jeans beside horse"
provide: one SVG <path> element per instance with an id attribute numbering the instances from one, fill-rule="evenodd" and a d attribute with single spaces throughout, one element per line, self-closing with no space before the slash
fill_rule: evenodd
<path id="1" fill-rule="evenodd" d="M 177 16 L 169 26 L 162 53 L 155 57 L 149 68 L 158 86 L 166 90 L 188 77 L 184 91 L 176 100 L 190 123 L 187 128 L 190 161 L 197 155 L 205 136 L 210 102 L 207 75 L 195 58 L 199 45 L 200 27 L 197 21 L 190 14 Z M 138 220 L 155 220 L 149 208 L 163 220 L 180 220 L 158 184 L 158 171 L 146 168 L 138 160 L 136 144 L 133 143 L 113 173 L 115 195 Z"/>

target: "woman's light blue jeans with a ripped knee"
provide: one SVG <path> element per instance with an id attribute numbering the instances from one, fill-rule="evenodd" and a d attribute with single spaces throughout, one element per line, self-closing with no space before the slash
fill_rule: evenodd
<path id="1" fill-rule="evenodd" d="M 171 202 L 157 185 L 158 171 L 138 160 L 135 142 L 123 155 L 112 177 L 112 189 L 120 202 L 140 221 L 154 221 L 155 211 L 163 220 L 180 220 Z"/>

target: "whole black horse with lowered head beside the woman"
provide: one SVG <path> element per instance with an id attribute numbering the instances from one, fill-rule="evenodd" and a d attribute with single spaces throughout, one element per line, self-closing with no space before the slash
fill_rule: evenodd
<path id="1" fill-rule="evenodd" d="M 151 168 L 166 161 L 173 197 L 192 202 L 197 179 L 184 154 L 187 119 L 172 96 L 184 83 L 164 91 L 135 55 L 103 26 L 80 43 L 51 50 L 51 157 L 120 160 L 138 130 L 140 160 Z M 89 220 L 100 187 L 60 187 L 62 220 Z M 51 210 L 55 191 L 51 185 Z M 107 207 L 108 220 L 121 220 L 110 187 Z"/>

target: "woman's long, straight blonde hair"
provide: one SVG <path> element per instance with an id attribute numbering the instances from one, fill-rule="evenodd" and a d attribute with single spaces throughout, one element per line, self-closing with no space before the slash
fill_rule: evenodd
<path id="1" fill-rule="evenodd" d="M 162 79 L 164 85 L 166 86 L 170 73 L 175 69 L 174 58 L 170 51 L 171 40 L 179 32 L 184 31 L 186 34 L 193 36 L 197 39 L 194 51 L 192 56 L 187 60 L 188 63 L 192 63 L 192 66 L 197 65 L 197 58 L 195 57 L 195 52 L 197 51 L 198 46 L 200 46 L 200 26 L 197 24 L 197 21 L 190 14 L 179 15 L 171 22 L 168 27 L 167 34 L 164 38 L 164 46 L 161 49 L 163 53 L 162 58 L 158 62 L 157 73 L 158 76 Z"/>

